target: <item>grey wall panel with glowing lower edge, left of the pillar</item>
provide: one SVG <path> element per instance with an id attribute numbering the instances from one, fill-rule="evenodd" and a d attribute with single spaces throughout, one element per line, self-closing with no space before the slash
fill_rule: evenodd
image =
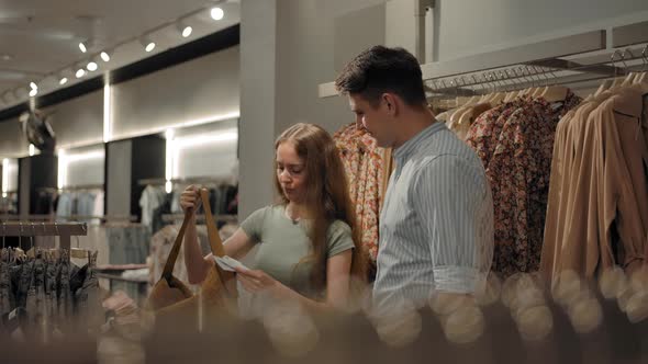
<path id="1" fill-rule="evenodd" d="M 111 138 L 237 117 L 238 70 L 236 46 L 113 86 Z"/>

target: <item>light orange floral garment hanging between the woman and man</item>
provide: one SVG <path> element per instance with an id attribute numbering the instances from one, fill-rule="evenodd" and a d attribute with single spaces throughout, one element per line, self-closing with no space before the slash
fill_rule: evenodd
<path id="1" fill-rule="evenodd" d="M 378 217 L 380 216 L 383 181 L 383 149 L 378 148 L 366 130 L 355 124 L 344 126 L 333 136 L 346 171 L 351 203 L 356 206 L 357 228 L 369 258 L 378 255 Z"/>

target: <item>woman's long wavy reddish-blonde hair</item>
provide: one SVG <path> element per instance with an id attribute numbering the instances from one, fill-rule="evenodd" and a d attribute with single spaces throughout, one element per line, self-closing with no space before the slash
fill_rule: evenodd
<path id="1" fill-rule="evenodd" d="M 309 234 L 313 249 L 302 262 L 313 262 L 311 284 L 316 289 L 326 287 L 326 232 L 335 220 L 342 220 L 350 226 L 355 247 L 351 277 L 366 282 L 368 255 L 360 243 L 348 182 L 335 141 L 322 127 L 300 123 L 289 127 L 277 138 L 275 150 L 284 143 L 290 143 L 305 163 L 305 204 L 310 217 L 313 218 Z M 275 185 L 281 198 L 280 203 L 288 204 L 277 174 Z"/>

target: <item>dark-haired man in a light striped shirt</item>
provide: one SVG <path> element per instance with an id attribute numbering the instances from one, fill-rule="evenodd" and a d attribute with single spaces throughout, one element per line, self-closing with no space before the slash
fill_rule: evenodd
<path id="1" fill-rule="evenodd" d="M 476 153 L 427 107 L 418 61 L 403 48 L 375 46 L 335 86 L 348 95 L 357 127 L 393 148 L 375 305 L 422 307 L 439 293 L 470 297 L 491 266 L 491 191 Z"/>

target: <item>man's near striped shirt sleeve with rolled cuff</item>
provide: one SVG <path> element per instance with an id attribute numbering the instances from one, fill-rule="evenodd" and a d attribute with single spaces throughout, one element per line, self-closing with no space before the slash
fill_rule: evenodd
<path id="1" fill-rule="evenodd" d="M 483 172 L 463 158 L 439 156 L 421 167 L 410 191 L 429 244 L 434 288 L 474 293 L 490 270 L 493 203 Z"/>

